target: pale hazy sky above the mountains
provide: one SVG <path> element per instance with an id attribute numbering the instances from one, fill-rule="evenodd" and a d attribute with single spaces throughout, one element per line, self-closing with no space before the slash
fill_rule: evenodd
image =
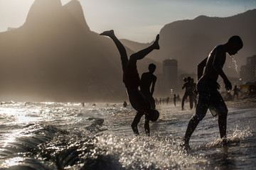
<path id="1" fill-rule="evenodd" d="M 0 0 L 0 32 L 26 20 L 35 0 Z M 70 0 L 61 0 L 63 5 Z M 151 42 L 167 23 L 196 16 L 233 16 L 256 8 L 256 0 L 79 0 L 90 30 L 114 29 L 119 38 Z"/>

